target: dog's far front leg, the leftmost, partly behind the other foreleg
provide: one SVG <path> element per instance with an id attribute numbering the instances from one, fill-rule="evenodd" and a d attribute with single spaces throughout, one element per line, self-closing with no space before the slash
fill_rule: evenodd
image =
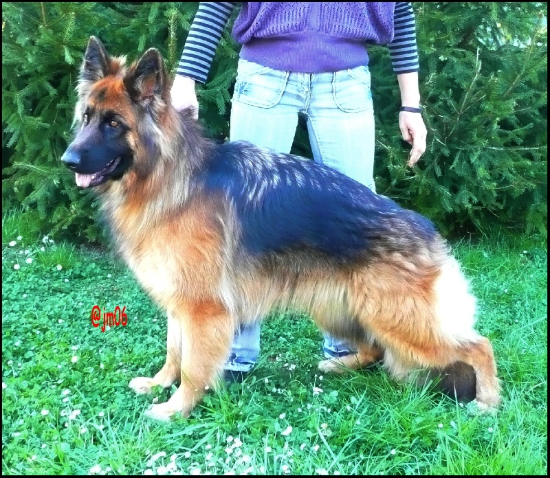
<path id="1" fill-rule="evenodd" d="M 170 387 L 179 378 L 181 363 L 181 324 L 168 312 L 168 331 L 166 339 L 166 362 L 162 369 L 153 377 L 136 377 L 130 382 L 130 388 L 136 394 L 150 394 L 151 388 L 160 385 Z"/>

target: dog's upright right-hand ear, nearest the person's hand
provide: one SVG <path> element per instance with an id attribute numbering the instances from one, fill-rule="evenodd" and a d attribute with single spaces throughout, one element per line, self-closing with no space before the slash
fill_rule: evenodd
<path id="1" fill-rule="evenodd" d="M 148 49 L 129 74 L 124 84 L 135 102 L 149 106 L 162 97 L 166 73 L 162 55 L 156 48 Z"/>

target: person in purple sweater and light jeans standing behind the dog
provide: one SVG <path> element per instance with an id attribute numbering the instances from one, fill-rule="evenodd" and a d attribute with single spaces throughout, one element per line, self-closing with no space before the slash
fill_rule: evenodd
<path id="1" fill-rule="evenodd" d="M 176 109 L 198 117 L 195 82 L 206 82 L 235 3 L 201 2 L 171 90 Z M 426 150 L 418 89 L 415 17 L 409 2 L 243 2 L 233 26 L 242 45 L 232 98 L 230 141 L 290 152 L 298 114 L 307 118 L 314 160 L 375 191 L 374 115 L 366 43 L 388 44 L 401 93 L 399 128 L 412 145 L 408 165 Z M 256 363 L 260 326 L 241 326 L 225 377 L 242 379 Z M 325 358 L 354 353 L 325 334 Z"/>

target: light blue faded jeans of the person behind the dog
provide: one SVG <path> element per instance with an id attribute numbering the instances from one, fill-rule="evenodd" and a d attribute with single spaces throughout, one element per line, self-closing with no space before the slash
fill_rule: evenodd
<path id="1" fill-rule="evenodd" d="M 336 73 L 292 73 L 239 60 L 232 99 L 230 141 L 250 141 L 290 152 L 298 115 L 307 119 L 314 160 L 375 191 L 374 114 L 366 66 Z M 354 353 L 325 334 L 325 356 Z M 248 372 L 260 352 L 260 325 L 241 326 L 225 369 Z"/>

